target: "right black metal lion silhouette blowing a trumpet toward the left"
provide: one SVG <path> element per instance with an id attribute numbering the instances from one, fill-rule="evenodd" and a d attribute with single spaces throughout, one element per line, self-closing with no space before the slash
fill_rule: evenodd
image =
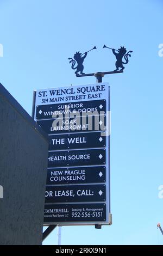
<path id="1" fill-rule="evenodd" d="M 128 57 L 131 57 L 131 52 L 133 52 L 133 51 L 129 51 L 129 52 L 127 52 L 126 51 L 126 48 L 124 48 L 124 46 L 122 47 L 121 46 L 121 48 L 119 48 L 118 50 L 115 50 L 114 48 L 110 48 L 110 47 L 107 47 L 106 45 L 104 45 L 103 46 L 103 48 L 108 48 L 108 49 L 111 49 L 112 50 L 112 53 L 115 55 L 115 57 L 116 57 L 116 59 L 117 59 L 117 61 L 116 61 L 116 63 L 115 63 L 115 65 L 116 65 L 116 69 L 114 70 L 114 71 L 118 71 L 119 70 L 119 68 L 121 68 L 120 69 L 120 71 L 123 71 L 123 69 L 124 69 L 124 66 L 123 66 L 123 64 L 127 64 L 128 63 Z M 116 52 L 117 51 L 117 52 Z M 127 53 L 126 53 L 127 52 Z M 124 60 L 126 61 L 126 62 L 123 62 L 123 57 L 124 57 Z"/>

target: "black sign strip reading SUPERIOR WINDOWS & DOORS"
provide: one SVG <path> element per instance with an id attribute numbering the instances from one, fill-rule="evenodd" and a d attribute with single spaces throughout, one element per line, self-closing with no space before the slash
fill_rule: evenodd
<path id="1" fill-rule="evenodd" d="M 106 112 L 106 100 L 91 100 L 91 101 L 79 101 L 68 102 L 60 104 L 40 105 L 36 107 L 36 119 L 51 119 L 57 117 L 57 115 L 65 115 L 73 113 L 100 113 Z"/>

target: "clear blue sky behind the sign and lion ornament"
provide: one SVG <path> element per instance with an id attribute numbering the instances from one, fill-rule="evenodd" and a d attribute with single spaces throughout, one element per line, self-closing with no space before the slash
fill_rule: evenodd
<path id="1" fill-rule="evenodd" d="M 62 227 L 62 245 L 163 245 L 162 0 L 0 0 L 0 82 L 31 114 L 34 89 L 89 84 L 67 58 L 96 45 L 85 72 L 115 69 L 106 44 L 133 50 L 111 87 L 111 212 L 113 224 Z M 57 244 L 57 229 L 45 245 Z"/>

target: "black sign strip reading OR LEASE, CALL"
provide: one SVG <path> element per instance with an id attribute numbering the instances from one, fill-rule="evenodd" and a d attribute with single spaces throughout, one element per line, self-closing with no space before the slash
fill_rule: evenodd
<path id="1" fill-rule="evenodd" d="M 45 192 L 45 203 L 102 202 L 105 200 L 105 185 L 47 186 Z"/>

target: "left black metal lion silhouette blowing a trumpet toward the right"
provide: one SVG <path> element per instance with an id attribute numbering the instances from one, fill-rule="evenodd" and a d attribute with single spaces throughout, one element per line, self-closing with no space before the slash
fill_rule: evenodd
<path id="1" fill-rule="evenodd" d="M 83 66 L 83 62 L 84 62 L 84 59 L 86 58 L 87 56 L 87 53 L 96 49 L 96 46 L 94 46 L 91 50 L 85 52 L 85 53 L 80 53 L 79 51 L 76 52 L 73 56 L 73 58 L 68 58 L 70 59 L 70 62 L 69 63 L 72 63 L 71 65 L 71 68 L 72 69 L 76 69 L 76 72 L 75 74 L 76 75 L 79 75 L 78 72 L 80 72 L 80 75 L 84 75 L 85 73 L 83 73 L 83 70 L 84 70 L 84 66 Z M 82 55 L 84 55 L 82 57 Z M 75 67 L 75 65 L 77 64 L 77 66 Z"/>

